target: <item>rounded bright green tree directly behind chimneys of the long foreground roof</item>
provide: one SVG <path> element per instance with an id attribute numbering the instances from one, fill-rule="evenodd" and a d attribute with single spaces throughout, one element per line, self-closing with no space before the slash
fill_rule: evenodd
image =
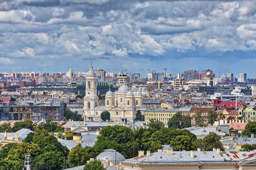
<path id="1" fill-rule="evenodd" d="M 194 145 L 191 141 L 192 139 L 187 135 L 178 135 L 176 138 L 172 138 L 170 147 L 172 147 L 174 151 L 193 150 Z"/>

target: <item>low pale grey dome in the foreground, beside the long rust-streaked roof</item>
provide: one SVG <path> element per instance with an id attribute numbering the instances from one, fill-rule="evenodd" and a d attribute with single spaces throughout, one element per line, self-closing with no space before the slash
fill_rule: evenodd
<path id="1" fill-rule="evenodd" d="M 113 164 L 115 164 L 115 160 L 116 160 L 116 164 L 119 164 L 120 161 L 125 160 L 125 157 L 122 156 L 121 153 L 116 152 L 116 150 L 104 150 L 104 152 L 100 153 L 96 159 L 100 160 L 102 163 L 106 162 L 106 158 L 108 158 L 108 162 L 112 162 Z"/>

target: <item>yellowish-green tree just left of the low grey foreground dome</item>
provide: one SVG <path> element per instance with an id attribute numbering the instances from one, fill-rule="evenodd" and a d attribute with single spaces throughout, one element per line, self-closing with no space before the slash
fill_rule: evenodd
<path id="1" fill-rule="evenodd" d="M 70 150 L 70 153 L 67 156 L 67 162 L 69 163 L 70 167 L 78 167 L 81 165 L 86 164 L 86 151 L 81 146 L 81 144 L 77 144 L 76 147 L 73 147 Z"/>

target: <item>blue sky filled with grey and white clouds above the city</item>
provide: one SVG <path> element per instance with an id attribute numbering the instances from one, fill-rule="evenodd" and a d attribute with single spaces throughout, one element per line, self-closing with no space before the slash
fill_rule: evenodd
<path id="1" fill-rule="evenodd" d="M 1 71 L 212 69 L 256 77 L 256 1 L 1 0 Z M 39 71 L 40 72 L 40 71 Z"/>

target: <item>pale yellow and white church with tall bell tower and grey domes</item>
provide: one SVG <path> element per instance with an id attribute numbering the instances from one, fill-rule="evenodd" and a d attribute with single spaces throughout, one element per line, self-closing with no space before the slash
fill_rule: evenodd
<path id="1" fill-rule="evenodd" d="M 90 70 L 86 74 L 84 121 L 100 121 L 100 114 L 108 111 L 112 121 L 134 123 L 136 110 L 142 105 L 143 94 L 140 91 L 134 94 L 128 86 L 122 85 L 116 92 L 109 89 L 105 95 L 105 105 L 99 106 L 96 82 L 97 76 L 91 61 Z"/>

